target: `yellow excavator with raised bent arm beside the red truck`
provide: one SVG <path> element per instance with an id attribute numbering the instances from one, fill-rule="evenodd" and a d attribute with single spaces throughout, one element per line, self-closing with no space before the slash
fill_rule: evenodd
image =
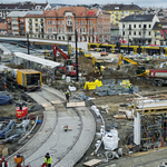
<path id="1" fill-rule="evenodd" d="M 127 62 L 136 66 L 136 73 L 138 77 L 147 77 L 148 73 L 149 73 L 149 70 L 146 70 L 146 68 L 144 66 L 139 66 L 138 62 L 134 61 L 132 59 L 130 59 L 129 57 L 124 57 L 122 55 L 119 56 L 119 61 L 118 61 L 118 67 L 117 67 L 117 70 L 120 69 L 120 66 L 121 66 L 121 61 L 126 60 Z"/>

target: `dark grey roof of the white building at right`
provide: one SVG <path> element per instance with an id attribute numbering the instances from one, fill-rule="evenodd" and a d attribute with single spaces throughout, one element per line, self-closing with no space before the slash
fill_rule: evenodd
<path id="1" fill-rule="evenodd" d="M 128 16 L 121 20 L 119 20 L 119 22 L 124 22 L 124 21 L 153 21 L 155 14 L 131 14 Z"/>

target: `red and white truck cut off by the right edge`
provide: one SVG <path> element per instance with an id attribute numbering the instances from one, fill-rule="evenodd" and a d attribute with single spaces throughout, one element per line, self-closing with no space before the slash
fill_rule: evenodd
<path id="1" fill-rule="evenodd" d="M 167 69 L 150 69 L 148 77 L 153 86 L 167 85 Z"/>

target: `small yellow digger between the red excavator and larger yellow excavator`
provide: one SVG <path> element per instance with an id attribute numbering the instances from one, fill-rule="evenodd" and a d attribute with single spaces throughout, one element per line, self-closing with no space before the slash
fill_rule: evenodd
<path id="1" fill-rule="evenodd" d="M 97 60 L 95 57 L 92 57 L 92 67 L 96 73 L 105 71 L 104 60 Z"/>

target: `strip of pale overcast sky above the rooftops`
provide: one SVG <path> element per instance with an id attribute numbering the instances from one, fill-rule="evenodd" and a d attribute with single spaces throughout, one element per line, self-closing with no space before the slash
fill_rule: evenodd
<path id="1" fill-rule="evenodd" d="M 0 0 L 1 2 L 18 2 L 18 0 Z M 20 0 L 20 2 L 23 2 L 26 0 Z M 29 0 L 27 0 L 29 1 Z M 40 2 L 45 3 L 46 0 L 31 0 L 32 2 Z M 135 4 L 138 4 L 139 7 L 164 7 L 167 8 L 167 0 L 48 0 L 49 3 L 65 3 L 65 4 L 90 4 L 90 3 L 99 3 L 99 4 L 106 4 L 106 3 L 125 3 L 130 4 L 134 2 Z"/>

